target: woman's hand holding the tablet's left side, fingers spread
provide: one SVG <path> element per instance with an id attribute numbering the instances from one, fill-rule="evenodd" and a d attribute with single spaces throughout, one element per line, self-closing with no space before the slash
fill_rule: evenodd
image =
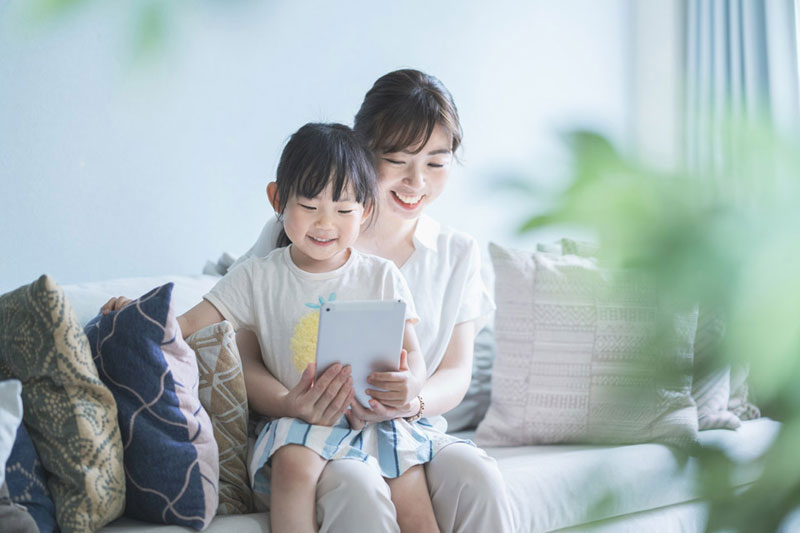
<path id="1" fill-rule="evenodd" d="M 309 424 L 332 426 L 353 401 L 350 365 L 331 365 L 315 383 L 316 366 L 309 363 L 297 385 L 283 397 L 283 411 Z"/>

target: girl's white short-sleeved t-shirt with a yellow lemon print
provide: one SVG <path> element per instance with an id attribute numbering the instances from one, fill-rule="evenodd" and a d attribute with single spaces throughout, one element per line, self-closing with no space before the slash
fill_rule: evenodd
<path id="1" fill-rule="evenodd" d="M 351 248 L 340 268 L 312 273 L 295 265 L 290 248 L 242 261 L 204 296 L 235 329 L 256 334 L 267 370 L 286 388 L 294 387 L 315 360 L 324 304 L 401 299 L 406 320 L 417 321 L 406 280 L 391 261 Z"/>

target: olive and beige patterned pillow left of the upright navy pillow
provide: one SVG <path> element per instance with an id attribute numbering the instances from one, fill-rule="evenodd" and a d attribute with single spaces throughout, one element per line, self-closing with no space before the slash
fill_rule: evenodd
<path id="1" fill-rule="evenodd" d="M 64 531 L 94 531 L 122 513 L 125 485 L 114 397 L 86 336 L 48 276 L 0 296 L 0 379 L 22 381 L 23 420 Z"/>

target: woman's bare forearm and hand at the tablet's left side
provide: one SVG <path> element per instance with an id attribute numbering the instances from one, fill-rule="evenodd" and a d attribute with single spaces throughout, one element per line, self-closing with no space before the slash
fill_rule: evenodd
<path id="1" fill-rule="evenodd" d="M 353 399 L 350 366 L 331 365 L 314 382 L 316 365 L 309 364 L 300 382 L 287 389 L 264 366 L 255 334 L 236 333 L 250 408 L 265 416 L 299 418 L 309 424 L 332 426 Z"/>

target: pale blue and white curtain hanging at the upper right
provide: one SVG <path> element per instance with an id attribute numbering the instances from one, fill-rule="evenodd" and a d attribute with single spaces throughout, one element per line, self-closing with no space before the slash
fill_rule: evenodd
<path id="1" fill-rule="evenodd" d="M 798 20 L 795 0 L 686 0 L 687 169 L 735 172 L 738 126 L 798 131 Z"/>

